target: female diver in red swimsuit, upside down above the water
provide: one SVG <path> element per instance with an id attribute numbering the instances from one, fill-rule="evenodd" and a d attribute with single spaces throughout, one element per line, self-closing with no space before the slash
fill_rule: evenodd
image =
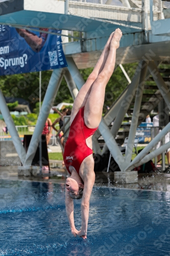
<path id="1" fill-rule="evenodd" d="M 92 135 L 102 118 L 105 88 L 114 70 L 116 49 L 121 37 L 120 29 L 110 35 L 102 55 L 75 99 L 70 117 L 70 132 L 64 150 L 68 172 L 65 206 L 71 233 L 83 239 L 87 238 L 89 201 L 95 181 Z M 78 231 L 74 223 L 73 199 L 79 198 L 82 198 L 82 225 Z"/>

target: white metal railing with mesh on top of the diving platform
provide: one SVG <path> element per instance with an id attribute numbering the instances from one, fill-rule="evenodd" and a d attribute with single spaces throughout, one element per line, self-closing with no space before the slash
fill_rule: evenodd
<path id="1" fill-rule="evenodd" d="M 151 0 L 153 20 L 169 17 L 169 0 Z M 126 24 L 128 27 L 151 30 L 150 0 L 69 0 L 72 15 Z M 70 32 L 73 34 L 73 32 Z M 81 37 L 82 34 L 79 34 Z M 71 39 L 71 41 L 74 39 Z"/>

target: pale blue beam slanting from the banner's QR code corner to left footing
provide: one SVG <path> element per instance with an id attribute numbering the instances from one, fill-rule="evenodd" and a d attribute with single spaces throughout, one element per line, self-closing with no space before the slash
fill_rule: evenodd
<path id="1" fill-rule="evenodd" d="M 56 94 L 58 92 L 58 89 L 60 87 L 62 78 L 63 78 L 63 69 L 55 69 L 52 73 L 52 76 L 50 78 L 50 81 L 48 83 L 48 87 L 43 99 L 43 103 L 41 106 L 41 110 L 38 116 L 38 120 L 35 126 L 35 130 L 33 133 L 33 136 L 30 141 L 30 145 L 27 151 L 26 160 L 24 165 L 25 166 L 31 166 L 32 160 L 35 156 L 39 139 L 43 131 L 44 124 L 46 122 L 46 119 L 50 113 L 50 110 L 53 106 L 54 99 L 56 97 Z"/>

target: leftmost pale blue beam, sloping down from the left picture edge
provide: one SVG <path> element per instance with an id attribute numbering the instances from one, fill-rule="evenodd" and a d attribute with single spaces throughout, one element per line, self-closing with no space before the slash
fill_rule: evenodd
<path id="1" fill-rule="evenodd" d="M 26 159 L 26 151 L 25 151 L 25 149 L 22 145 L 22 142 L 19 138 L 18 132 L 16 131 L 14 121 L 10 115 L 7 103 L 5 101 L 5 98 L 4 98 L 1 90 L 0 90 L 0 110 L 4 117 L 5 123 L 8 127 L 8 130 L 10 132 L 12 142 L 15 146 L 16 152 L 21 160 L 21 163 L 24 164 L 25 159 Z"/>

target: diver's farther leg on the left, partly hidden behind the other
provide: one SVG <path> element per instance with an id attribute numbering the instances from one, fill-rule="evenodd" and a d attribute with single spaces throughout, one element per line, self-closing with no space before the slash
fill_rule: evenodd
<path id="1" fill-rule="evenodd" d="M 75 116 L 78 113 L 78 111 L 80 110 L 80 108 L 85 106 L 86 101 L 87 101 L 88 96 L 89 96 L 90 91 L 91 91 L 92 84 L 95 81 L 95 79 L 98 77 L 98 75 L 101 73 L 101 71 L 103 70 L 103 68 L 105 66 L 107 57 L 109 55 L 110 41 L 113 37 L 113 34 L 114 34 L 114 32 L 110 35 L 110 37 L 107 41 L 107 44 L 106 44 L 98 62 L 96 63 L 92 73 L 87 78 L 87 81 L 85 82 L 85 84 L 81 88 L 81 90 L 79 91 L 79 93 L 78 93 L 78 95 L 77 95 L 77 97 L 74 101 L 74 105 L 72 106 L 72 111 L 71 111 L 70 123 L 75 118 Z"/>

